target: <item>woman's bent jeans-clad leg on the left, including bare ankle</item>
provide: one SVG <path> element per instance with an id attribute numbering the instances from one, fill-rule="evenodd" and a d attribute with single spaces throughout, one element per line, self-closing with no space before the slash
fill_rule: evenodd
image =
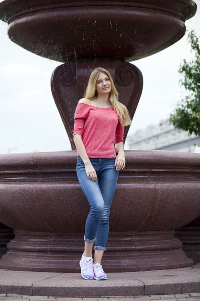
<path id="1" fill-rule="evenodd" d="M 91 158 L 91 163 L 96 170 L 98 176 L 98 158 Z M 97 181 L 92 181 L 87 177 L 85 165 L 80 157 L 77 160 L 77 177 L 81 188 L 89 202 L 90 212 L 85 224 L 84 240 L 88 243 L 85 244 L 85 256 L 91 257 L 93 242 L 96 240 L 96 233 L 99 228 L 100 220 L 104 212 L 104 200 L 100 187 Z"/>

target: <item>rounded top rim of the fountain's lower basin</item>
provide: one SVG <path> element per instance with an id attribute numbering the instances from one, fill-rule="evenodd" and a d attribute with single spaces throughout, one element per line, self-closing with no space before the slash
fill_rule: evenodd
<path id="1" fill-rule="evenodd" d="M 200 169 L 199 154 L 175 152 L 171 150 L 125 150 L 126 165 L 133 163 L 145 166 L 174 165 L 178 167 Z M 0 154 L 0 168 L 36 166 L 36 165 L 68 165 L 75 164 L 76 150 L 61 150 L 55 152 L 32 152 Z"/>

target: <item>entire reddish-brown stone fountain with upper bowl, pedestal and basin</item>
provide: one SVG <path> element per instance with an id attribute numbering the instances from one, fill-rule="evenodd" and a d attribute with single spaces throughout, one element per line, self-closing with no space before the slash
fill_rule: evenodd
<path id="1" fill-rule="evenodd" d="M 76 175 L 74 112 L 92 70 L 110 71 L 119 100 L 133 118 L 143 87 L 130 61 L 169 47 L 196 12 L 191 0 L 4 0 L 0 19 L 9 38 L 63 62 L 51 89 L 68 133 L 70 152 L 0 155 L 0 222 L 15 238 L 0 268 L 79 272 L 89 204 Z M 124 142 L 129 126 L 124 131 Z M 174 237 L 200 215 L 198 154 L 126 150 L 110 212 L 102 264 L 107 272 L 193 264 Z"/>

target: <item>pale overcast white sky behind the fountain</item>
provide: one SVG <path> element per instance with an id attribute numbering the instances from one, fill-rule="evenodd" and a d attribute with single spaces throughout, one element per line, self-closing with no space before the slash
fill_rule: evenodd
<path id="1" fill-rule="evenodd" d="M 196 3 L 197 14 L 186 26 L 200 36 L 200 0 Z M 61 63 L 11 42 L 2 21 L 0 45 L 0 153 L 71 150 L 50 88 L 51 74 Z M 186 35 L 171 47 L 133 62 L 143 73 L 144 88 L 128 136 L 169 117 L 184 96 L 178 83 L 184 58 L 192 59 Z"/>

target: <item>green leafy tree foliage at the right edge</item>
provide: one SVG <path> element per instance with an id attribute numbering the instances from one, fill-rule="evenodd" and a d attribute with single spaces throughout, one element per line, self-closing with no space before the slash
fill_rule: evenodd
<path id="1" fill-rule="evenodd" d="M 200 136 L 200 41 L 194 30 L 188 33 L 188 41 L 195 57 L 191 62 L 183 60 L 180 65 L 180 85 L 186 90 L 185 99 L 170 114 L 169 124 L 175 128 Z"/>

